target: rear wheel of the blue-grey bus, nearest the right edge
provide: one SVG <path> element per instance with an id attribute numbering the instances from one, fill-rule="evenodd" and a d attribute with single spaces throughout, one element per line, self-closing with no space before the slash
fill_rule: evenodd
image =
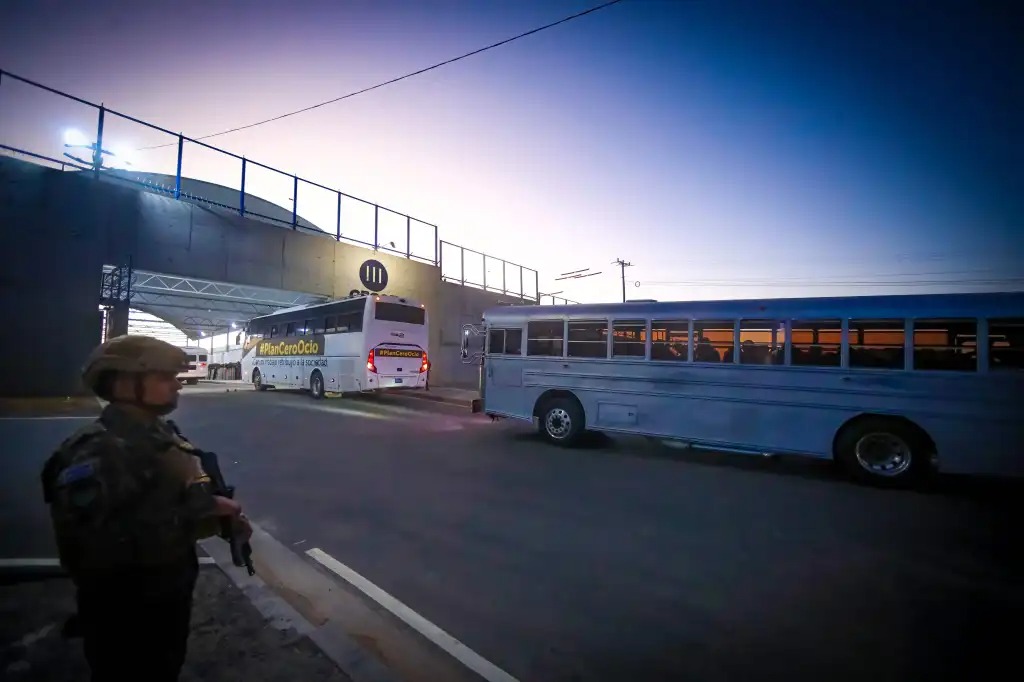
<path id="1" fill-rule="evenodd" d="M 928 436 L 910 422 L 863 417 L 836 436 L 834 456 L 847 474 L 877 487 L 908 487 L 928 469 Z"/>

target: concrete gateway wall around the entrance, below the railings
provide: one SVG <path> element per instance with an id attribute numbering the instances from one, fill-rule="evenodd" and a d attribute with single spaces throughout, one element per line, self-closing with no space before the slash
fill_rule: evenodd
<path id="1" fill-rule="evenodd" d="M 0 247 L 8 396 L 82 391 L 78 368 L 99 339 L 101 267 L 129 257 L 137 269 L 331 297 L 364 289 L 359 265 L 375 258 L 388 269 L 385 293 L 427 307 L 432 385 L 475 386 L 476 370 L 459 357 L 462 325 L 521 302 L 442 283 L 433 265 L 10 158 L 0 158 Z"/>

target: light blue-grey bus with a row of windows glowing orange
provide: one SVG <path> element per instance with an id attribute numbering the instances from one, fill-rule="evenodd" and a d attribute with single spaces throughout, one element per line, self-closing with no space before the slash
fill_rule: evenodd
<path id="1" fill-rule="evenodd" d="M 905 485 L 1024 475 L 1024 293 L 488 309 L 483 412 L 550 441 L 585 430 L 835 459 Z"/>

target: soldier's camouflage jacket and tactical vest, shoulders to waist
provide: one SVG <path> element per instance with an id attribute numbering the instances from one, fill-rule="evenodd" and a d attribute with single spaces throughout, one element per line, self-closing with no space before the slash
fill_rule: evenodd
<path id="1" fill-rule="evenodd" d="M 61 564 L 73 576 L 158 567 L 194 556 L 196 523 L 182 514 L 182 457 L 161 425 L 117 432 L 102 418 L 47 461 L 43 491 Z"/>

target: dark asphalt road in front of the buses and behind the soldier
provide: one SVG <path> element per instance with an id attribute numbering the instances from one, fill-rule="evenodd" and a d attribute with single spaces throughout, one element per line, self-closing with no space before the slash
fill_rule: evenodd
<path id="1" fill-rule="evenodd" d="M 640 439 L 566 451 L 392 398 L 193 391 L 175 419 L 279 541 L 523 682 L 963 679 L 1017 646 L 1020 486 L 876 491 Z M 0 422 L 4 556 L 50 551 L 38 470 L 75 425 Z"/>

